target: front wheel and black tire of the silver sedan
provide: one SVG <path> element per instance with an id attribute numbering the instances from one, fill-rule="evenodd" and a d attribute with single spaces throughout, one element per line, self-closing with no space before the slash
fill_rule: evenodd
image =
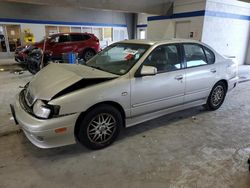
<path id="1" fill-rule="evenodd" d="M 121 113 L 115 107 L 99 105 L 80 120 L 78 140 L 89 149 L 102 149 L 116 140 L 122 124 Z"/>

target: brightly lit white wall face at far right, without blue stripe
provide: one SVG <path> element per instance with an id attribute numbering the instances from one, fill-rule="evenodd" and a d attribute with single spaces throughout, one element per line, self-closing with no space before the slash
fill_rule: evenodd
<path id="1" fill-rule="evenodd" d="M 248 3 L 234 0 L 208 0 L 206 11 L 250 15 Z M 205 16 L 202 42 L 212 46 L 222 55 L 235 56 L 244 64 L 249 41 L 250 21 L 216 16 Z"/>

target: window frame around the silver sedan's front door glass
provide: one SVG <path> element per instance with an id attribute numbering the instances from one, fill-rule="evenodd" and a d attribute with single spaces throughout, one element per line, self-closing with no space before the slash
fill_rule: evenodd
<path id="1" fill-rule="evenodd" d="M 177 48 L 177 53 L 178 53 L 178 57 L 179 57 L 179 61 L 180 61 L 180 69 L 177 69 L 177 70 L 169 70 L 169 71 L 162 71 L 162 72 L 158 72 L 156 73 L 157 74 L 162 74 L 162 73 L 167 73 L 167 72 L 174 72 L 174 71 L 179 71 L 179 70 L 182 70 L 185 68 L 184 66 L 184 61 L 183 61 L 183 54 L 182 54 L 182 49 L 181 49 L 181 45 L 180 43 L 167 43 L 167 44 L 161 44 L 161 45 L 158 45 L 156 46 L 151 52 L 150 54 L 144 59 L 144 61 L 142 62 L 142 64 L 140 65 L 140 67 L 138 68 L 138 70 L 136 71 L 135 75 L 138 75 L 138 73 L 140 73 L 141 69 L 142 69 L 142 66 L 144 65 L 144 63 L 146 62 L 146 60 L 148 59 L 148 57 L 155 52 L 155 50 L 159 47 L 162 47 L 162 46 L 176 46 Z M 157 67 L 156 67 L 157 68 Z"/>

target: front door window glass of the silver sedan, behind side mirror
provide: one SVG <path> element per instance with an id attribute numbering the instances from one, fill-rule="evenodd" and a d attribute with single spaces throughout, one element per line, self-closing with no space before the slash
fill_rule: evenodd
<path id="1" fill-rule="evenodd" d="M 165 45 L 157 47 L 143 63 L 154 66 L 158 73 L 181 69 L 181 61 L 176 45 Z"/>

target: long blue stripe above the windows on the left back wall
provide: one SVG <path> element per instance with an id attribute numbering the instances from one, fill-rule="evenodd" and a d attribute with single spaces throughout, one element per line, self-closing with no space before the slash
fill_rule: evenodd
<path id="1" fill-rule="evenodd" d="M 32 24 L 52 24 L 52 25 L 82 25 L 82 26 L 106 26 L 106 27 L 127 27 L 126 24 L 109 24 L 109 23 L 88 23 L 88 22 L 63 22 L 63 21 L 48 21 L 48 20 L 29 20 L 29 19 L 12 19 L 0 18 L 0 22 L 15 22 L 15 23 L 32 23 Z"/>

